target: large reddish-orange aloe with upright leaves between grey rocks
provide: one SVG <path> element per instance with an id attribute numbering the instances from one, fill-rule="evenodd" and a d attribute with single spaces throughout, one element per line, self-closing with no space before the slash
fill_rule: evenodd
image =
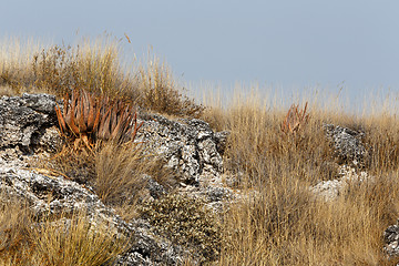
<path id="1" fill-rule="evenodd" d="M 96 140 L 134 140 L 143 124 L 137 124 L 137 114 L 131 105 L 84 90 L 74 90 L 71 98 L 65 95 L 63 103 L 63 112 L 55 106 L 61 134 L 72 139 L 75 149 L 82 142 L 91 149 Z"/>

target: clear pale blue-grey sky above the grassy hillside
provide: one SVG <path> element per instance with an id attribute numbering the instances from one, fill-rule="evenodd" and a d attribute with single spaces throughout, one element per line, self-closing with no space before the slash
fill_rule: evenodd
<path id="1" fill-rule="evenodd" d="M 399 91 L 398 0 L 0 0 L 0 33 L 73 43 L 105 31 L 192 84 Z M 129 57 L 129 55 L 126 55 Z M 194 85 L 195 86 L 195 85 Z M 193 86 L 193 88 L 194 88 Z M 198 86 L 201 88 L 201 86 Z M 198 89 L 196 89 L 198 90 Z"/>

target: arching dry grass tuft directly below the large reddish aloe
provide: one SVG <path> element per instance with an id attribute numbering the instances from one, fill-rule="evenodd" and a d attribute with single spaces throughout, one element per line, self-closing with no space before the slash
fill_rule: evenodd
<path id="1" fill-rule="evenodd" d="M 152 155 L 145 143 L 105 143 L 95 154 L 94 165 L 96 194 L 125 221 L 139 216 L 137 205 L 149 196 L 149 178 L 156 181 L 165 191 L 173 190 L 176 184 L 175 173 L 165 167 L 163 160 Z"/>

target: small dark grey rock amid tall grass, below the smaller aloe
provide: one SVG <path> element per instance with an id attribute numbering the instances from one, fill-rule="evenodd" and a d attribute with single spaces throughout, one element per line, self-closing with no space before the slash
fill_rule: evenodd
<path id="1" fill-rule="evenodd" d="M 361 143 L 364 133 L 332 124 L 324 124 L 324 127 L 340 163 L 358 168 L 365 166 L 367 151 Z"/>

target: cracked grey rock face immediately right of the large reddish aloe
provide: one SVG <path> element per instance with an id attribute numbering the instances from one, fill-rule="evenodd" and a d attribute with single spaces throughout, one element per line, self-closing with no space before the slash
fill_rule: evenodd
<path id="1" fill-rule="evenodd" d="M 196 119 L 176 122 L 156 114 L 141 119 L 145 122 L 137 137 L 181 174 L 183 184 L 219 182 L 227 133 L 214 133 L 206 122 Z"/>

